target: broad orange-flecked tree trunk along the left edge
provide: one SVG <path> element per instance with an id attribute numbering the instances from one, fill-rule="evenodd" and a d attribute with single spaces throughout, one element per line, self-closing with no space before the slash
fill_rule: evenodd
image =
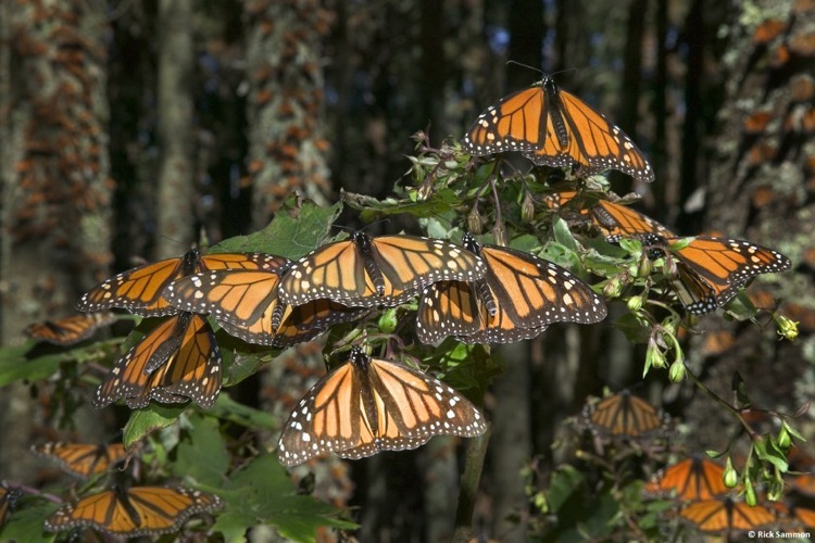
<path id="1" fill-rule="evenodd" d="M 2 254 L 7 345 L 26 324 L 73 313 L 110 262 L 104 2 L 2 2 Z M 0 478 L 30 468 L 26 389 L 3 393 Z M 41 390 L 48 400 L 48 390 Z M 23 400 L 24 401 L 21 401 Z"/>

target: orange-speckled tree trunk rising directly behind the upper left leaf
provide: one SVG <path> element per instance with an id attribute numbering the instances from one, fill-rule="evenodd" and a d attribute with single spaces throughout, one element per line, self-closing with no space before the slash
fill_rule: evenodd
<path id="1" fill-rule="evenodd" d="M 318 0 L 247 0 L 244 7 L 252 224 L 262 228 L 294 191 L 326 202 L 319 56 L 329 21 Z"/>

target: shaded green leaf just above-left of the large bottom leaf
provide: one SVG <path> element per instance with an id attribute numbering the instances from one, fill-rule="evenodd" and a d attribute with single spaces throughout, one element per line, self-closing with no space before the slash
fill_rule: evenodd
<path id="1" fill-rule="evenodd" d="M 217 419 L 193 414 L 190 428 L 178 443 L 176 460 L 171 469 L 176 477 L 190 477 L 197 484 L 220 487 L 229 468 L 229 453 L 221 434 Z"/>

